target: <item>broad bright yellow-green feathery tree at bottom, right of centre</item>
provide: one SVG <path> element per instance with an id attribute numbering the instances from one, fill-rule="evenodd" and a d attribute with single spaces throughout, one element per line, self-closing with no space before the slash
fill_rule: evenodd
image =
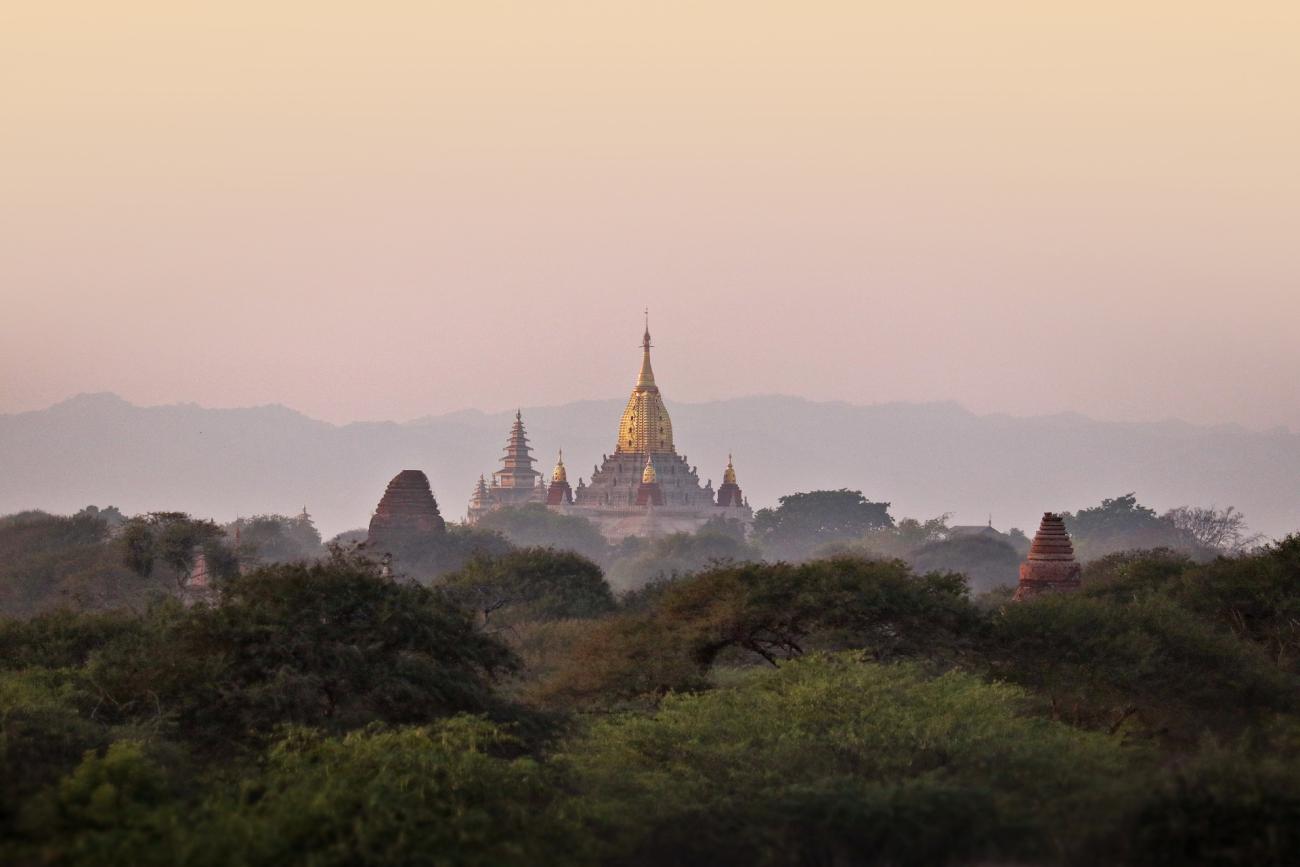
<path id="1" fill-rule="evenodd" d="M 949 672 L 810 656 L 594 723 L 560 762 L 619 864 L 1044 863 L 1124 815 L 1114 741 Z"/>

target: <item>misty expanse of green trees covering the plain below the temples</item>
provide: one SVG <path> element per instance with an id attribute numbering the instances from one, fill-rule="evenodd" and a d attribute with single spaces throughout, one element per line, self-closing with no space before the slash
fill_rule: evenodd
<path id="1" fill-rule="evenodd" d="M 1082 589 L 1013 604 L 1024 533 L 858 491 L 751 538 L 497 520 L 380 563 L 306 512 L 0 519 L 0 861 L 1300 850 L 1300 536 L 1108 498 Z"/>

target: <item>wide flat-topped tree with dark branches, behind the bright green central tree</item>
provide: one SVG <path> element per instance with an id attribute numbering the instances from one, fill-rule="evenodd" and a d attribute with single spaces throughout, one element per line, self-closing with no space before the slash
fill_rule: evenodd
<path id="1" fill-rule="evenodd" d="M 550 702 L 618 705 L 701 689 L 723 654 L 775 664 L 815 647 L 950 663 L 980 624 L 956 575 L 853 558 L 723 565 L 595 624 L 538 692 Z"/>

